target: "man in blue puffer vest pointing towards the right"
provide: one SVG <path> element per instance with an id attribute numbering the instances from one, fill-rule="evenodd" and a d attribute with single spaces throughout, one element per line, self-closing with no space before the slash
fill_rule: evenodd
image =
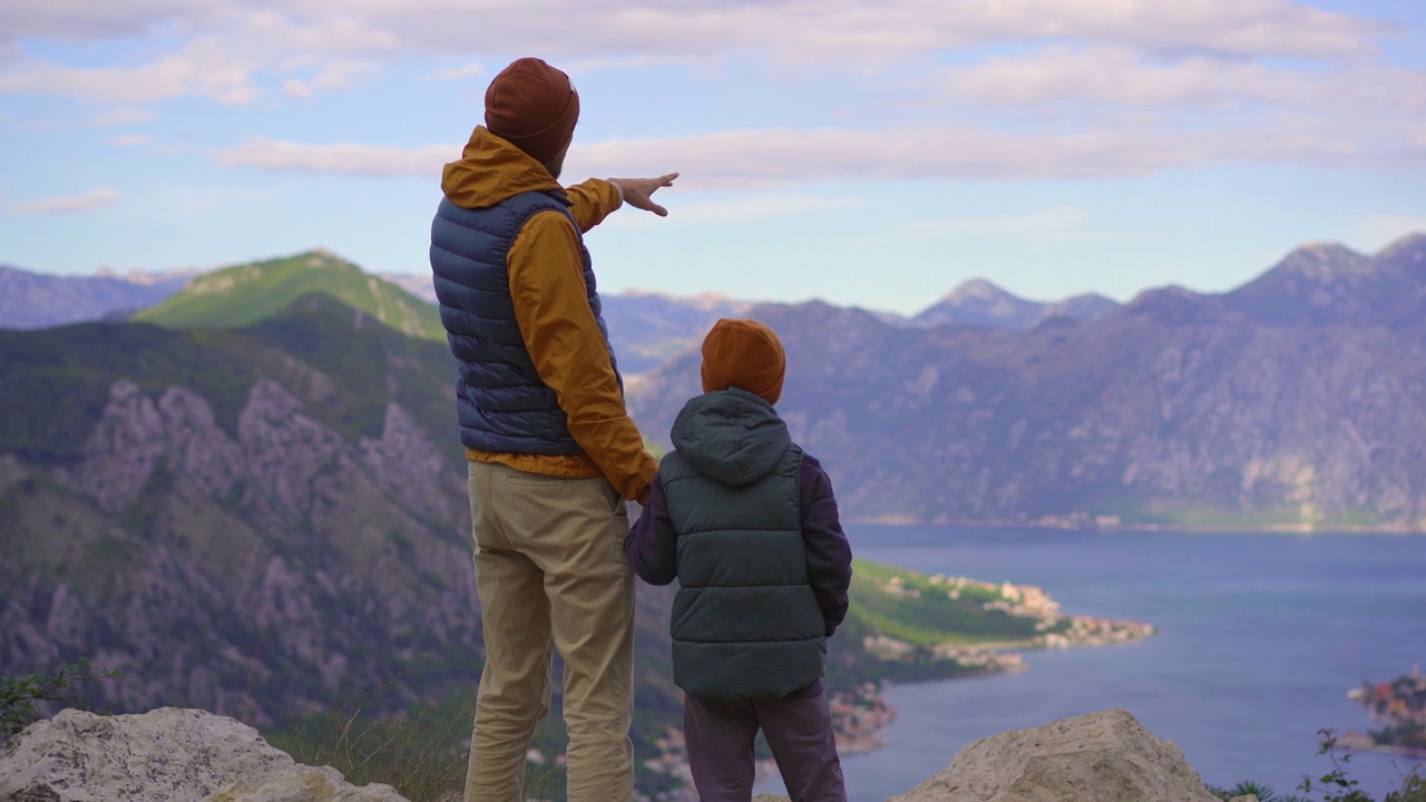
<path id="1" fill-rule="evenodd" d="M 459 361 L 486 662 L 465 798 L 525 799 L 525 756 L 565 661 L 570 802 L 633 795 L 633 572 L 626 499 L 656 472 L 623 402 L 582 233 L 622 204 L 667 211 L 657 178 L 556 178 L 579 118 L 569 76 L 519 59 L 446 164 L 431 225 L 441 320 Z"/>

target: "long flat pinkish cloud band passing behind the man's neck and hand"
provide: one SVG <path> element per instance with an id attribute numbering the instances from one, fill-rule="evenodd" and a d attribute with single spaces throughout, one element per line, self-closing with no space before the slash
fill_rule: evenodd
<path id="1" fill-rule="evenodd" d="M 227 167 L 345 176 L 438 176 L 461 147 L 297 144 L 255 137 L 215 151 Z M 1426 147 L 1372 150 L 1346 134 L 1279 130 L 1118 127 L 1085 133 L 1008 133 L 984 127 L 870 131 L 742 130 L 689 137 L 575 143 L 565 176 L 659 176 L 680 187 L 766 190 L 836 180 L 1118 178 L 1236 161 L 1318 167 L 1422 167 Z"/>

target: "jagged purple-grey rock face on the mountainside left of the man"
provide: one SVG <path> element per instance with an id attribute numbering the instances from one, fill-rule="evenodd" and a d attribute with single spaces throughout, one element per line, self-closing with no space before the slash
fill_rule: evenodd
<path id="1" fill-rule="evenodd" d="M 461 475 L 399 402 L 348 440 L 312 412 L 338 384 L 288 372 L 304 381 L 258 378 L 231 430 L 185 387 L 121 377 L 77 460 L 0 458 L 6 668 L 87 655 L 125 676 L 103 702 L 177 692 L 255 722 L 471 682 Z"/>

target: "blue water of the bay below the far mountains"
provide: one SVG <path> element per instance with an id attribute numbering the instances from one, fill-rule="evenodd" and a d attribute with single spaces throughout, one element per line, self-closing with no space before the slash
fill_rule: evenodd
<path id="1" fill-rule="evenodd" d="M 886 748 L 843 758 L 851 802 L 910 791 L 978 738 L 1107 708 L 1176 743 L 1212 786 L 1303 795 L 1303 776 L 1333 769 L 1320 731 L 1378 726 L 1348 691 L 1426 666 L 1426 535 L 886 525 L 847 535 L 866 559 L 1038 585 L 1062 612 L 1159 629 L 1132 645 L 1025 651 L 1017 674 L 891 686 L 898 716 Z M 1373 799 L 1422 762 L 1338 759 Z M 781 789 L 773 779 L 759 791 Z M 1310 796 L 1320 799 L 1316 788 Z"/>

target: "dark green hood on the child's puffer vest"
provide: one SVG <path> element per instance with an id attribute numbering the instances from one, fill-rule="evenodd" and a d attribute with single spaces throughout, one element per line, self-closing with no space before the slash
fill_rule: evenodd
<path id="1" fill-rule="evenodd" d="M 730 485 L 766 477 L 793 442 L 771 404 L 736 387 L 684 404 L 670 437 L 700 474 Z"/>

